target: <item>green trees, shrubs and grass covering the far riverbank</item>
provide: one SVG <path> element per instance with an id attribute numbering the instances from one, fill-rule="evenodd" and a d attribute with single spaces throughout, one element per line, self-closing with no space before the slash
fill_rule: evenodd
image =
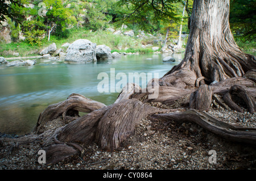
<path id="1" fill-rule="evenodd" d="M 0 29 L 9 30 L 9 42 L 6 37 L 0 38 L 0 56 L 13 57 L 35 56 L 44 47 L 55 43 L 57 48 L 62 48 L 64 43 L 72 43 L 77 39 L 88 39 L 97 45 L 105 44 L 118 52 L 152 53 L 150 48 L 142 45 L 164 45 L 164 39 L 177 44 L 180 25 L 182 32 L 189 33 L 188 17 L 191 14 L 193 1 L 183 3 L 171 2 L 172 9 L 161 12 L 160 9 L 147 6 L 143 3 L 129 1 L 18 1 L 2 17 Z M 1 2 L 3 3 L 3 2 Z M 143 5 L 143 9 L 141 9 Z M 253 2 L 230 2 L 230 26 L 238 46 L 244 51 L 255 49 L 255 16 Z M 136 7 L 136 8 L 135 8 Z M 184 11 L 186 9 L 186 11 Z M 156 18 L 155 14 L 158 14 Z M 112 30 L 134 31 L 134 36 L 113 35 Z M 161 37 L 159 44 L 150 37 Z M 156 39 L 156 38 L 155 38 Z M 187 39 L 183 40 L 183 47 Z"/>

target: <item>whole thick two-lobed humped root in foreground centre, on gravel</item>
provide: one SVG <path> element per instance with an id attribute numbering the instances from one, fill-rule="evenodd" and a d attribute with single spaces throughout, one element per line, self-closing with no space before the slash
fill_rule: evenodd
<path id="1" fill-rule="evenodd" d="M 163 110 L 143 104 L 137 99 L 123 100 L 72 121 L 57 138 L 61 142 L 85 144 L 95 139 L 102 149 L 114 150 L 133 134 L 138 121 L 154 112 Z"/>

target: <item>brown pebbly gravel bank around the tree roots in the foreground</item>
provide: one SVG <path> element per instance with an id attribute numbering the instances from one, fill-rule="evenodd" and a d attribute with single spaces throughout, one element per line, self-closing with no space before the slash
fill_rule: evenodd
<path id="1" fill-rule="evenodd" d="M 256 128 L 256 113 L 211 108 L 210 115 L 229 124 Z M 84 145 L 85 146 L 85 145 Z M 40 142 L 6 146 L 0 142 L 0 169 L 38 170 L 222 170 L 256 169 L 256 148 L 220 138 L 199 125 L 143 119 L 118 151 L 85 146 L 84 157 L 75 155 L 55 165 L 38 163 Z M 210 163 L 216 151 L 216 163 Z"/>

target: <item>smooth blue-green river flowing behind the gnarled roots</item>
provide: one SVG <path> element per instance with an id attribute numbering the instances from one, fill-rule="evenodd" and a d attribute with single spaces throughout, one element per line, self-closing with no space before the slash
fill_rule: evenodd
<path id="1" fill-rule="evenodd" d="M 118 92 L 99 92 L 100 73 L 158 73 L 159 78 L 184 54 L 172 55 L 176 62 L 163 62 L 162 54 L 126 55 L 118 59 L 89 64 L 65 64 L 46 59 L 36 60 L 34 66 L 0 66 L 0 132 L 27 134 L 35 127 L 38 116 L 50 104 L 67 99 L 72 93 L 97 100 L 106 105 L 114 103 Z M 117 83 L 117 81 L 115 82 Z M 142 85 L 141 85 L 142 86 Z"/>

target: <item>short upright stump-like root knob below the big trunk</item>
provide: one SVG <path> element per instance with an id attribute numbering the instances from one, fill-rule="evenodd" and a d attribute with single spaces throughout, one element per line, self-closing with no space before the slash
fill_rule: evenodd
<path id="1" fill-rule="evenodd" d="M 201 85 L 190 96 L 189 107 L 199 111 L 209 111 L 212 103 L 212 86 Z"/>

